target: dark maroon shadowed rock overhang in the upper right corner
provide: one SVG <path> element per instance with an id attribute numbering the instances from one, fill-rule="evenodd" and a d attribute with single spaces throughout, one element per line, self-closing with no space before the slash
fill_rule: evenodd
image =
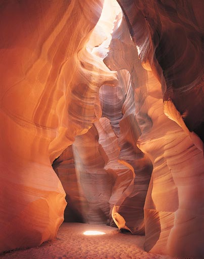
<path id="1" fill-rule="evenodd" d="M 204 140 L 203 2 L 118 2 L 141 61 L 150 63 L 162 83 L 164 100 L 171 100 L 188 129 Z"/>

